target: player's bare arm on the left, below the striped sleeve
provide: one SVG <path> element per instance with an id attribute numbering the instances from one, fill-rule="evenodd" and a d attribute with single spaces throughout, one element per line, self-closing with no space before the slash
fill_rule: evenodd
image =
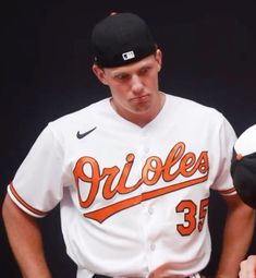
<path id="1" fill-rule="evenodd" d="M 50 278 L 37 219 L 20 209 L 7 194 L 2 218 L 9 242 L 24 278 Z"/>

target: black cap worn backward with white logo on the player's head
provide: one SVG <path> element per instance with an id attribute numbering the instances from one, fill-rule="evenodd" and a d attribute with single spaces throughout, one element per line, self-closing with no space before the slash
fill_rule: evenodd
<path id="1" fill-rule="evenodd" d="M 157 45 L 147 24 L 138 15 L 113 13 L 95 25 L 92 47 L 96 64 L 114 68 L 153 55 Z"/>

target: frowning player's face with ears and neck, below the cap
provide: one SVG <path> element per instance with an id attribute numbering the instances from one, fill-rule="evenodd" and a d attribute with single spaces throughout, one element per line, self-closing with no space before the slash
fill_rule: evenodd
<path id="1" fill-rule="evenodd" d="M 159 109 L 158 72 L 161 69 L 161 51 L 148 56 L 138 62 L 123 67 L 99 69 L 94 65 L 95 74 L 108 85 L 112 95 L 112 105 L 124 118 L 136 116 L 156 116 Z M 158 111 L 157 111 L 158 112 Z"/>

